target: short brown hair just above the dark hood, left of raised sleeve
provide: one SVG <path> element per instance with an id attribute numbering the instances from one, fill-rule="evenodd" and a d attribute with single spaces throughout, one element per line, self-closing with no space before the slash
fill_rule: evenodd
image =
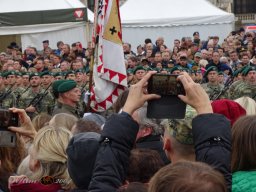
<path id="1" fill-rule="evenodd" d="M 95 132 L 100 133 L 101 129 L 100 126 L 97 125 L 97 123 L 93 121 L 88 121 L 85 119 L 79 119 L 75 124 L 75 129 L 73 131 L 73 134 L 78 134 L 82 132 Z"/>

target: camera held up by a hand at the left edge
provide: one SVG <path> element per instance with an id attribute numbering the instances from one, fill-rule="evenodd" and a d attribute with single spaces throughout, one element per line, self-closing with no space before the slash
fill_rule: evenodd
<path id="1" fill-rule="evenodd" d="M 0 109 L 0 147 L 15 147 L 16 134 L 8 131 L 10 126 L 18 126 L 18 114 L 8 109 Z"/>

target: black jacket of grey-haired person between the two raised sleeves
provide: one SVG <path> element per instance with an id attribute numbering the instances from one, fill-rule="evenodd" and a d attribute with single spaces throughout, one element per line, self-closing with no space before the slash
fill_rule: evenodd
<path id="1" fill-rule="evenodd" d="M 170 161 L 168 160 L 165 151 L 163 150 L 163 142 L 161 141 L 161 135 L 148 135 L 142 138 L 139 138 L 136 141 L 137 148 L 143 149 L 152 149 L 156 150 L 159 155 L 161 156 L 165 165 L 169 164 Z"/>

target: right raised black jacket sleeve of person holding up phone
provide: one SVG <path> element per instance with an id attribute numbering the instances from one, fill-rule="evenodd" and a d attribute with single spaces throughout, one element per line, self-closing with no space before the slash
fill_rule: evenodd
<path id="1" fill-rule="evenodd" d="M 223 115 L 203 114 L 192 121 L 196 160 L 223 173 L 231 191 L 231 126 Z"/>

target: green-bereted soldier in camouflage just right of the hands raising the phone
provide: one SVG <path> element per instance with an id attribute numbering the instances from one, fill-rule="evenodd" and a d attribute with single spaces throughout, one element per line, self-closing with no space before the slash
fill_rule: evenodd
<path id="1" fill-rule="evenodd" d="M 224 88 L 224 85 L 218 82 L 217 67 L 209 67 L 205 72 L 205 77 L 207 77 L 208 83 L 204 83 L 201 86 L 208 94 L 210 100 L 213 100 Z"/>

